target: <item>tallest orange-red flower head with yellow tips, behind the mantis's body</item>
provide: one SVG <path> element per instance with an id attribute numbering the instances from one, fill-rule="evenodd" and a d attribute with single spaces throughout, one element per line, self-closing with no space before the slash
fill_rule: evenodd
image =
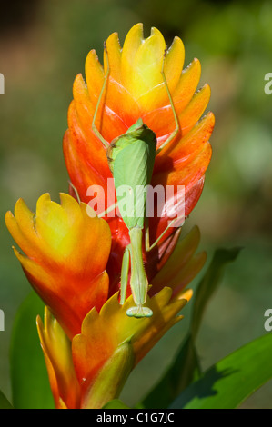
<path id="1" fill-rule="evenodd" d="M 126 35 L 123 48 L 118 35 L 110 35 L 106 40 L 109 60 L 109 79 L 106 91 L 98 109 L 96 127 L 109 143 L 126 133 L 128 127 L 141 117 L 157 137 L 157 148 L 171 134 L 175 127 L 173 111 L 169 103 L 162 79 L 162 65 L 166 51 L 163 35 L 152 28 L 151 35 L 144 39 L 143 25 L 137 24 Z M 183 70 L 184 45 L 179 37 L 166 52 L 165 74 L 170 93 L 175 104 L 180 132 L 174 141 L 156 155 L 151 185 L 161 184 L 185 186 L 185 214 L 190 214 L 202 192 L 204 174 L 211 157 L 208 142 L 214 128 L 214 114 L 205 112 L 210 97 L 210 88 L 205 84 L 198 92 L 201 67 L 197 59 Z M 65 164 L 71 182 L 84 202 L 88 202 L 87 188 L 93 184 L 102 185 L 107 191 L 107 179 L 112 177 L 106 159 L 106 148 L 92 130 L 92 120 L 106 75 L 106 54 L 104 67 L 100 65 L 96 51 L 90 51 L 86 58 L 86 83 L 82 74 L 76 76 L 74 100 L 68 111 L 68 130 L 64 137 Z M 73 192 L 72 192 L 73 193 Z M 110 294 L 116 292 L 119 281 L 122 256 L 129 237 L 122 218 L 106 218 L 113 237 L 112 251 L 107 271 L 111 277 Z M 166 229 L 168 218 L 150 218 L 151 242 Z M 169 237 L 166 233 L 158 244 L 158 249 Z M 174 236 L 172 236 L 174 238 Z M 168 241 L 168 244 L 170 242 Z M 173 243 L 173 242 L 172 242 Z M 165 259 L 157 254 L 149 264 L 154 265 L 148 279 L 152 281 L 157 272 L 157 264 L 166 262 L 171 253 L 170 245 Z"/>

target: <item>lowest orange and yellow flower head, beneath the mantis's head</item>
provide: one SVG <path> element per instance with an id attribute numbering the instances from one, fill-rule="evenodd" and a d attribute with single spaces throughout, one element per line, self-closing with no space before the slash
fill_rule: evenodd
<path id="1" fill-rule="evenodd" d="M 183 316 L 176 316 L 192 292 L 171 299 L 164 288 L 148 304 L 154 315 L 133 319 L 126 310 L 134 305 L 132 296 L 120 307 L 117 293 L 102 307 L 93 308 L 72 343 L 45 307 L 45 326 L 37 318 L 48 376 L 56 408 L 102 408 L 118 397 L 136 364 Z"/>

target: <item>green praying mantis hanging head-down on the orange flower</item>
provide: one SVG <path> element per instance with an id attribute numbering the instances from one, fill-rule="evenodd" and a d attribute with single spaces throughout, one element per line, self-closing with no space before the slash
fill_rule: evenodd
<path id="1" fill-rule="evenodd" d="M 143 123 L 141 118 L 139 118 L 136 121 L 136 124 L 133 124 L 131 127 L 129 127 L 129 129 L 126 131 L 126 134 L 118 136 L 110 144 L 106 141 L 106 139 L 96 128 L 97 111 L 106 89 L 106 84 L 110 74 L 106 44 L 104 44 L 104 48 L 106 53 L 107 68 L 104 83 L 96 103 L 92 129 L 102 144 L 106 146 L 107 161 L 115 182 L 117 199 L 116 204 L 118 204 L 119 212 L 124 220 L 124 223 L 126 223 L 130 237 L 130 243 L 126 246 L 122 261 L 120 304 L 123 305 L 126 301 L 126 289 L 130 265 L 131 274 L 129 284 L 136 306 L 129 308 L 126 311 L 126 314 L 130 317 L 136 318 L 150 317 L 153 315 L 152 310 L 144 306 L 146 303 L 146 295 L 149 288 L 149 283 L 146 277 L 146 271 L 143 262 L 143 230 L 144 228 L 146 230 L 145 247 L 146 252 L 149 252 L 156 246 L 168 228 L 172 226 L 173 223 L 179 218 L 171 221 L 171 223 L 169 223 L 166 227 L 166 230 L 156 239 L 156 242 L 150 245 L 149 228 L 148 223 L 146 222 L 146 191 L 144 189 L 146 188 L 146 185 L 149 185 L 151 182 L 156 154 L 158 154 L 163 148 L 166 147 L 167 144 L 174 140 L 176 134 L 179 132 L 179 124 L 164 72 L 166 58 L 165 51 L 161 74 L 173 111 L 176 124 L 175 130 L 167 137 L 166 141 L 158 149 L 156 149 L 156 134 L 151 129 L 149 129 L 146 124 Z M 122 192 L 119 191 L 124 186 L 129 188 L 129 194 L 131 196 L 128 197 L 128 201 L 126 200 L 125 204 L 123 195 L 121 194 Z M 99 214 L 98 216 L 105 216 L 105 214 L 108 213 L 111 209 L 115 209 L 116 204 L 110 206 L 103 214 Z"/>

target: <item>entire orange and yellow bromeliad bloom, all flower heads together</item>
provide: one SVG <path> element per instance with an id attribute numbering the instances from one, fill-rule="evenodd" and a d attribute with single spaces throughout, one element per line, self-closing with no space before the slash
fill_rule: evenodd
<path id="1" fill-rule="evenodd" d="M 139 117 L 156 133 L 158 148 L 175 129 L 161 74 L 165 50 L 161 33 L 153 28 L 145 40 L 140 24 L 126 35 L 123 49 L 116 33 L 107 39 L 110 74 L 96 127 L 109 143 Z M 198 121 L 210 89 L 206 84 L 196 93 L 198 60 L 184 71 L 183 64 L 184 47 L 176 37 L 166 52 L 165 74 L 180 132 L 157 154 L 151 185 L 184 185 L 188 215 L 202 192 L 214 115 Z M 196 253 L 196 227 L 179 241 L 180 230 L 169 230 L 154 251 L 144 253 L 150 283 L 147 304 L 153 316 L 128 317 L 126 310 L 134 304 L 129 293 L 126 303 L 119 304 L 128 231 L 118 216 L 90 217 L 86 205 L 87 189 L 94 184 L 103 187 L 107 200 L 107 179 L 112 178 L 106 148 L 91 125 L 105 73 L 106 65 L 103 68 L 91 51 L 86 58 L 86 84 L 78 74 L 68 112 L 65 163 L 71 194 L 76 188 L 82 202 L 60 194 L 61 203 L 56 204 L 44 194 L 35 213 L 20 199 L 15 214 L 5 216 L 8 230 L 23 251 L 14 249 L 15 255 L 45 302 L 45 321 L 38 317 L 37 328 L 56 408 L 101 408 L 116 398 L 136 363 L 182 318 L 178 313 L 192 295 L 185 288 L 206 261 L 205 253 Z M 151 243 L 167 222 L 167 216 L 150 218 Z"/>

